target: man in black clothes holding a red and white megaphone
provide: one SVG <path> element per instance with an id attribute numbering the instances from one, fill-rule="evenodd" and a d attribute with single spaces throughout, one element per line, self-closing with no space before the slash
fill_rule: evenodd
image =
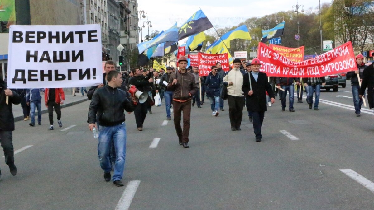
<path id="1" fill-rule="evenodd" d="M 139 99 L 139 103 L 137 103 L 137 105 L 135 106 L 134 115 L 138 131 L 141 131 L 143 130 L 143 123 L 148 112 L 148 100 L 151 100 L 150 97 L 145 98 L 146 96 L 144 93 L 147 93 L 146 90 L 150 89 L 150 84 L 153 83 L 153 78 L 144 77 L 140 69 L 137 67 L 132 68 L 131 72 L 132 74 L 134 74 L 134 77 L 129 83 L 129 85 L 132 85 L 132 88 L 130 87 L 129 92 L 132 92 L 132 95 L 134 94 L 135 97 Z M 135 89 L 137 89 L 138 91 L 136 91 Z"/>

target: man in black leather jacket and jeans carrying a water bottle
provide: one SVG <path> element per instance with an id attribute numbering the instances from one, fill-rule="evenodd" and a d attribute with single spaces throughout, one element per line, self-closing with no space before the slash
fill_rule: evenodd
<path id="1" fill-rule="evenodd" d="M 114 142 L 116 149 L 116 163 L 114 164 L 113 183 L 123 186 L 121 182 L 125 167 L 126 154 L 126 125 L 125 114 L 134 111 L 134 103 L 126 98 L 126 93 L 119 89 L 122 77 L 118 71 L 110 71 L 107 74 L 108 83 L 93 93 L 88 111 L 88 127 L 90 130 L 96 127 L 96 114 L 100 120 L 98 155 L 101 168 L 104 170 L 104 179 L 109 182 L 111 175 L 110 146 Z"/>

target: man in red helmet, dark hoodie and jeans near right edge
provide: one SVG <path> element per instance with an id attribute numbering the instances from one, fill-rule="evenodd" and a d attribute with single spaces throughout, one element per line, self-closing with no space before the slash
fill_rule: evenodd
<path id="1" fill-rule="evenodd" d="M 353 105 L 355 106 L 355 113 L 357 117 L 361 116 L 361 106 L 364 104 L 364 101 L 362 98 L 359 98 L 359 90 L 360 85 L 358 81 L 358 76 L 360 76 L 360 79 L 362 81 L 362 78 L 364 77 L 364 56 L 359 54 L 356 56 L 356 64 L 357 64 L 357 70 L 356 71 L 349 71 L 347 72 L 347 79 L 349 78 L 351 80 L 351 86 L 352 86 L 352 96 L 353 96 Z M 365 96 L 365 92 L 364 92 Z"/>

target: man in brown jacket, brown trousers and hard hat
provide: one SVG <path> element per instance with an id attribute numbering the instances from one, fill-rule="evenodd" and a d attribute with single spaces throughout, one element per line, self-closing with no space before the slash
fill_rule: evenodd
<path id="1" fill-rule="evenodd" d="M 179 70 L 171 73 L 168 90 L 174 91 L 174 127 L 179 138 L 179 144 L 189 148 L 188 135 L 190 134 L 191 98 L 197 91 L 195 77 L 187 72 L 187 58 L 181 56 L 178 60 Z M 183 111 L 183 130 L 181 116 Z"/>

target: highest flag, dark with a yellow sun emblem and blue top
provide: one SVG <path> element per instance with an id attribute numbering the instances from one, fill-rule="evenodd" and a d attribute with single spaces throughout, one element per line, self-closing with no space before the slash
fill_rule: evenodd
<path id="1" fill-rule="evenodd" d="M 178 30 L 178 40 L 212 28 L 213 25 L 200 9 L 195 12 Z"/>

